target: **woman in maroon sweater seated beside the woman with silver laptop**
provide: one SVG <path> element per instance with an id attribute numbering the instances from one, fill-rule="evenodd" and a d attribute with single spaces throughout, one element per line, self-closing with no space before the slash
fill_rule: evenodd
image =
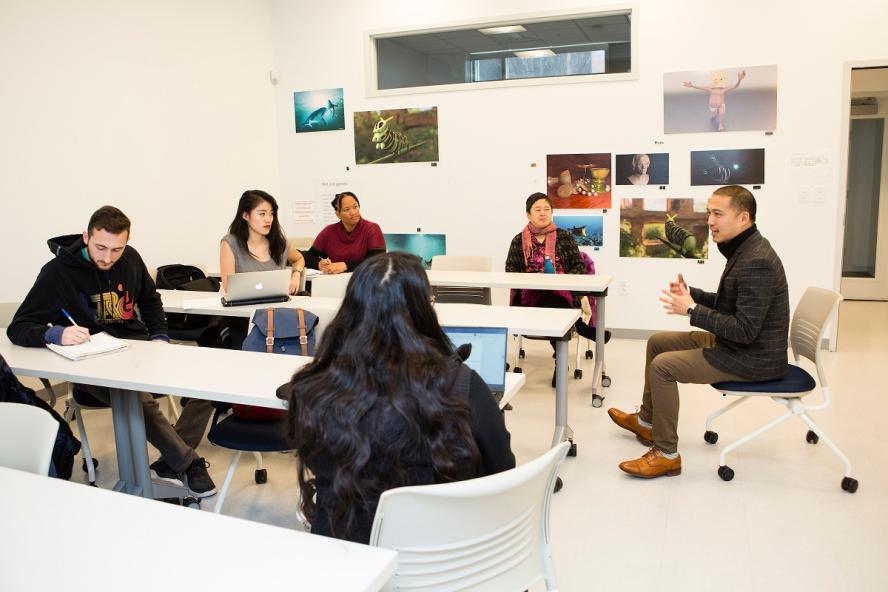
<path id="1" fill-rule="evenodd" d="M 350 191 L 337 193 L 330 202 L 339 222 L 325 227 L 305 254 L 309 267 L 323 273 L 354 271 L 365 259 L 385 253 L 385 238 L 378 224 L 361 218 L 361 203 Z"/>

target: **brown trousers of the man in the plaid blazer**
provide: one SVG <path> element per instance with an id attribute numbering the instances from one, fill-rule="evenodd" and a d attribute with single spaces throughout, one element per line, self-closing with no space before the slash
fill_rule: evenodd
<path id="1" fill-rule="evenodd" d="M 648 339 L 638 416 L 653 424 L 654 446 L 663 452 L 678 451 L 677 383 L 750 380 L 713 367 L 703 357 L 703 349 L 710 347 L 715 347 L 715 335 L 707 331 L 664 331 Z"/>

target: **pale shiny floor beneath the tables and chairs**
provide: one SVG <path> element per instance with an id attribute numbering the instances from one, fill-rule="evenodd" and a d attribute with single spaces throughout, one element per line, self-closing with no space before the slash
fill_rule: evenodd
<path id="1" fill-rule="evenodd" d="M 574 590 L 886 590 L 888 473 L 877 437 L 888 425 L 879 380 L 888 357 L 888 303 L 845 303 L 836 353 L 824 352 L 833 401 L 814 415 L 854 463 L 860 490 L 839 483 L 842 466 L 822 444 L 805 442 L 807 429 L 791 421 L 736 451 L 730 483 L 716 475 L 719 446 L 703 442 L 706 415 L 722 404 L 707 386 L 682 386 L 679 425 L 683 473 L 635 480 L 617 469 L 644 448 L 606 415 L 609 406 L 638 404 L 643 341 L 608 346 L 613 385 L 604 407 L 592 408 L 582 381 L 570 379 L 570 424 L 579 455 L 562 470 L 565 488 L 554 497 L 552 538 L 560 588 Z M 527 385 L 507 414 L 519 462 L 549 445 L 554 417 L 551 349 L 529 342 Z M 586 362 L 586 372 L 592 363 Z M 719 445 L 776 417 L 781 408 L 752 401 L 716 424 Z M 99 485 L 115 480 L 109 412 L 85 414 L 102 465 Z M 204 444 L 210 473 L 221 484 L 230 455 Z M 225 503 L 225 513 L 298 528 L 294 460 L 266 455 L 269 481 L 253 483 L 250 457 Z M 80 479 L 81 474 L 75 475 Z M 213 499 L 204 510 L 210 510 Z M 199 541 L 195 541 L 199 544 Z"/>

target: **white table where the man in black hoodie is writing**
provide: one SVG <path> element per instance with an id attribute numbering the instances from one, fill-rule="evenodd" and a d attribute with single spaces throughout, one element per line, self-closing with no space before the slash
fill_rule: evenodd
<path id="1" fill-rule="evenodd" d="M 151 482 L 145 416 L 133 391 L 285 409 L 277 388 L 311 361 L 304 356 L 126 341 L 125 351 L 73 361 L 48 348 L 13 345 L 4 334 L 0 354 L 20 376 L 108 387 L 120 475 L 114 489 L 148 498 L 172 495 L 158 495 L 166 489 Z M 513 397 L 523 384 L 523 376 L 507 377 L 503 399 Z"/>

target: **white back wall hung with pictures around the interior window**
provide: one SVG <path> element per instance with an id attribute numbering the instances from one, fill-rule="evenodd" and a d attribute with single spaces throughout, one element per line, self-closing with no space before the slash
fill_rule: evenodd
<path id="1" fill-rule="evenodd" d="M 843 64 L 885 58 L 888 5 L 860 1 L 850 11 L 801 2 L 673 0 L 639 2 L 638 80 L 564 84 L 483 91 L 438 92 L 366 98 L 363 35 L 399 26 L 421 27 L 452 21 L 496 18 L 546 10 L 577 10 L 595 4 L 555 0 L 544 7 L 529 0 L 406 2 L 330 0 L 322 11 L 304 11 L 293 2 L 272 2 L 275 55 L 281 74 L 277 105 L 292 110 L 292 91 L 342 86 L 347 112 L 436 105 L 439 109 L 440 164 L 354 166 L 351 118 L 346 130 L 323 134 L 278 128 L 281 195 L 311 199 L 319 179 L 354 179 L 364 215 L 384 231 L 446 232 L 448 252 L 479 253 L 501 268 L 509 240 L 526 222 L 524 199 L 545 190 L 549 153 L 668 151 L 668 191 L 646 188 L 651 197 L 705 199 L 711 188 L 689 186 L 692 149 L 766 149 L 766 183 L 755 191 L 759 227 L 781 254 L 793 301 L 808 285 L 837 287 L 837 240 L 841 240 L 839 200 Z M 333 17 L 335 15 L 335 18 Z M 662 133 L 662 75 L 681 70 L 777 64 L 778 129 L 724 134 Z M 663 141 L 662 145 L 655 142 Z M 825 150 L 827 175 L 823 203 L 799 202 L 800 181 L 790 157 Z M 531 168 L 536 163 L 536 168 Z M 346 173 L 346 167 L 351 170 Z M 806 181 L 812 185 L 811 181 Z M 622 189 L 617 187 L 617 190 Z M 615 193 L 615 200 L 621 194 Z M 617 202 L 615 201 L 615 204 Z M 598 269 L 626 282 L 627 294 L 613 289 L 608 324 L 619 328 L 686 327 L 667 318 L 658 291 L 676 273 L 715 289 L 723 258 L 711 245 L 710 260 L 621 259 L 619 212 L 605 218 L 605 248 L 595 255 Z M 298 228 L 300 233 L 306 228 Z"/>

